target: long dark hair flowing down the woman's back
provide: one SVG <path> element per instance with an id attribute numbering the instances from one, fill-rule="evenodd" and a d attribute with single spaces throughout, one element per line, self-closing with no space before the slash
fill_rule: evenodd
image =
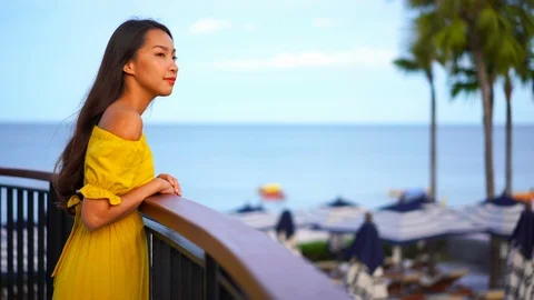
<path id="1" fill-rule="evenodd" d="M 72 137 L 53 168 L 53 187 L 59 208 L 66 209 L 69 198 L 82 188 L 87 144 L 92 129 L 106 109 L 122 96 L 122 68 L 142 47 L 146 33 L 151 29 L 162 30 L 172 39 L 169 29 L 164 24 L 137 19 L 120 24 L 109 39 L 95 83 L 78 114 Z"/>

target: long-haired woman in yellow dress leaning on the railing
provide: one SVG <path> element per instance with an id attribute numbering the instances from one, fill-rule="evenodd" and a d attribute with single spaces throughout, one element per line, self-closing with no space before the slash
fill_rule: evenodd
<path id="1" fill-rule="evenodd" d="M 137 208 L 151 194 L 181 190 L 174 177 L 155 177 L 141 114 L 156 97 L 172 92 L 175 60 L 170 31 L 152 20 L 126 21 L 111 36 L 56 166 L 59 206 L 76 217 L 52 273 L 55 299 L 149 298 Z"/>

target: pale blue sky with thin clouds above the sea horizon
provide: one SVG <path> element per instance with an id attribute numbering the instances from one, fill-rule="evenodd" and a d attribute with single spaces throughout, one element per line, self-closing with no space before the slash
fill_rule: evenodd
<path id="1" fill-rule="evenodd" d="M 395 0 L 0 1 L 0 122 L 72 120 L 113 30 L 129 18 L 169 27 L 179 74 L 146 123 L 427 123 L 422 74 L 392 61 L 408 11 Z M 436 67 L 438 122 L 481 124 L 478 96 L 453 100 Z M 504 98 L 496 89 L 495 123 Z M 534 123 L 516 84 L 515 123 Z"/>

